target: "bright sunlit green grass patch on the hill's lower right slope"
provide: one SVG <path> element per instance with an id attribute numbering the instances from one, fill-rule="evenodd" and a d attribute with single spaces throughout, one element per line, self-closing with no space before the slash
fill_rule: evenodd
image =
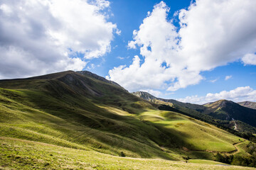
<path id="1" fill-rule="evenodd" d="M 151 111 L 142 113 L 140 118 L 153 122 L 180 140 L 182 147 L 192 150 L 230 152 L 235 149 L 233 143 L 239 141 L 235 135 L 179 113 Z"/>

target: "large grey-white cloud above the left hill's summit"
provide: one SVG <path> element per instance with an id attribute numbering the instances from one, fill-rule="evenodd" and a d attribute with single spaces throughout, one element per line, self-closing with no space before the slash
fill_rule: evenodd
<path id="1" fill-rule="evenodd" d="M 110 51 L 113 33 L 102 10 L 109 1 L 1 0 L 0 78 L 67 69 Z"/>

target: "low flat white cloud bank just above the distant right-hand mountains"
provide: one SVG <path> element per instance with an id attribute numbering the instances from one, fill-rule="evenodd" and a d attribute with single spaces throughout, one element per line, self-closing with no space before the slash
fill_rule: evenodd
<path id="1" fill-rule="evenodd" d="M 208 102 L 226 99 L 230 101 L 256 101 L 256 90 L 250 86 L 242 86 L 231 91 L 220 91 L 216 94 L 206 94 L 206 96 L 187 96 L 186 98 L 177 98 L 176 100 L 188 103 L 204 104 Z"/>

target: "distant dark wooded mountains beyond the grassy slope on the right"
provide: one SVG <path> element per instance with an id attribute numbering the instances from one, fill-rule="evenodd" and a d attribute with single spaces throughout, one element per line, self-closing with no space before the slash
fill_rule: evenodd
<path id="1" fill-rule="evenodd" d="M 256 133 L 256 110 L 245 108 L 233 101 L 220 100 L 204 105 L 182 103 L 174 99 L 156 98 L 144 91 L 132 93 L 153 103 L 169 105 L 172 108 L 187 113 L 194 118 L 205 120 L 215 125 L 225 125 L 239 132 Z"/>

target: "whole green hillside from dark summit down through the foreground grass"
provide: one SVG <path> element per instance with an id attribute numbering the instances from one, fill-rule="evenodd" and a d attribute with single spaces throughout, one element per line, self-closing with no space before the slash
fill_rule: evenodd
<path id="1" fill-rule="evenodd" d="M 157 164 L 155 169 L 193 169 L 182 162 L 250 154 L 234 145 L 246 143 L 241 137 L 176 111 L 159 111 L 159 104 L 90 72 L 1 80 L 0 87 L 0 162 L 6 169 L 146 169 L 143 162 Z"/>

